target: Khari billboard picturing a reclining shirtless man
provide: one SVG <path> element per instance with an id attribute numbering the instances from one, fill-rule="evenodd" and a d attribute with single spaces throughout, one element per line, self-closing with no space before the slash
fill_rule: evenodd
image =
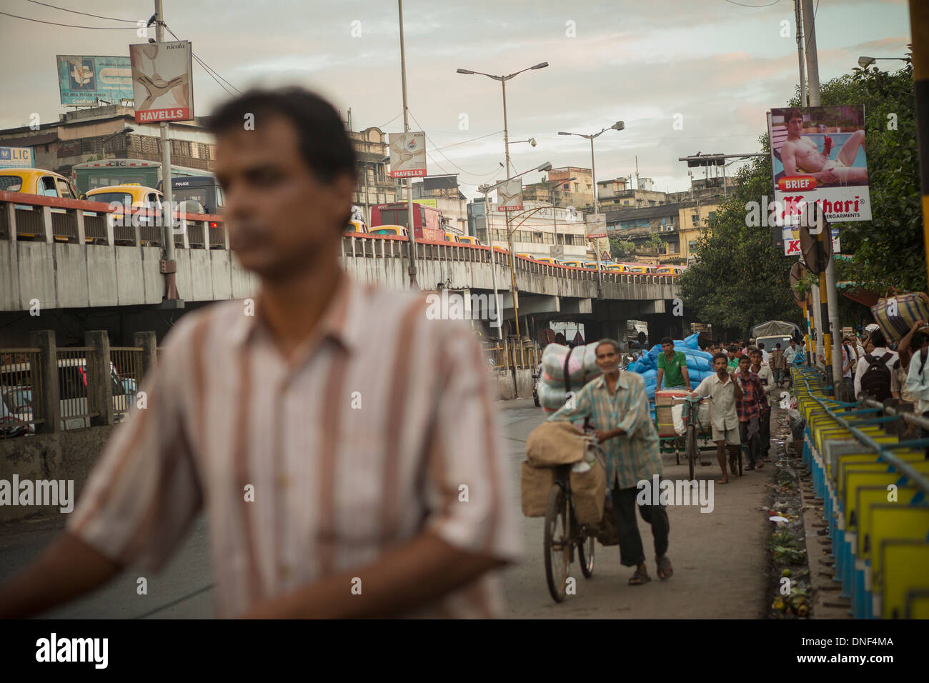
<path id="1" fill-rule="evenodd" d="M 768 112 L 779 225 L 798 225 L 809 203 L 830 222 L 871 219 L 864 124 L 860 105 Z"/>

